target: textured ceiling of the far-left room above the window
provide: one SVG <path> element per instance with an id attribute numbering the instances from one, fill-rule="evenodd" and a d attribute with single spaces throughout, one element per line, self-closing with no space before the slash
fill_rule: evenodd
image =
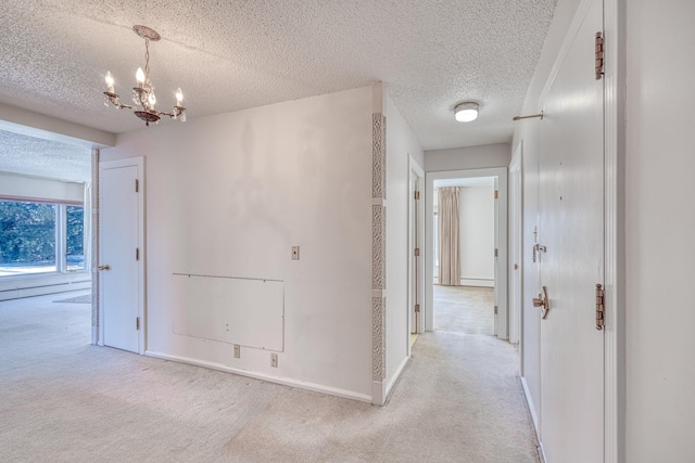
<path id="1" fill-rule="evenodd" d="M 0 130 L 0 170 L 89 182 L 91 150 Z"/>

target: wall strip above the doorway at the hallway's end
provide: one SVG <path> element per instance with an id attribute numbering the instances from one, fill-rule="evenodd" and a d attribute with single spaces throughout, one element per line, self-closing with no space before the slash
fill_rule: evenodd
<path id="1" fill-rule="evenodd" d="M 511 151 L 507 143 L 433 150 L 425 152 L 425 171 L 507 167 L 509 160 L 511 160 Z"/>

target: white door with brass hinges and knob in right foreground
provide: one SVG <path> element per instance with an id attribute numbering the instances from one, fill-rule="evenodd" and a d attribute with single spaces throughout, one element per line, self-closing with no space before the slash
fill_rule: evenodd
<path id="1" fill-rule="evenodd" d="M 604 283 L 604 82 L 594 76 L 603 1 L 583 2 L 573 24 L 540 129 L 540 267 L 549 299 L 541 321 L 541 443 L 549 463 L 604 461 L 595 290 Z"/>

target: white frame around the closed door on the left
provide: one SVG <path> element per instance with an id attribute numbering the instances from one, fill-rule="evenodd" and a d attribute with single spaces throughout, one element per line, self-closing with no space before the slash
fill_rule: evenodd
<path id="1" fill-rule="evenodd" d="M 146 271 L 146 266 L 144 266 L 144 261 L 146 261 L 146 256 L 147 256 L 147 249 L 146 249 L 146 242 L 144 242 L 144 157 L 143 156 L 138 156 L 138 157 L 128 157 L 125 159 L 117 159 L 117 160 L 105 160 L 105 162 L 99 162 L 99 179 L 101 180 L 101 176 L 102 176 L 102 171 L 104 169 L 108 168 L 118 168 L 118 167 L 130 167 L 130 166 L 136 166 L 138 168 L 138 189 L 139 189 L 139 194 L 138 194 L 138 242 L 139 242 L 139 248 L 140 248 L 140 259 L 138 260 L 138 317 L 140 317 L 140 330 L 138 332 L 138 344 L 139 344 L 139 349 L 138 349 L 138 353 L 140 355 L 144 355 L 146 350 L 147 350 L 147 310 L 146 310 L 146 278 L 144 278 L 144 271 Z M 96 261 L 98 262 L 98 265 L 101 265 L 100 262 L 100 254 L 101 254 L 101 246 L 103 245 L 103 241 L 101 240 L 101 226 L 102 226 L 102 219 L 101 219 L 101 214 L 99 214 L 99 207 L 101 205 L 101 195 L 102 195 L 102 191 L 101 191 L 101 181 L 98 182 L 99 184 L 99 205 L 97 205 L 97 214 L 99 215 L 99 246 L 97 247 L 97 259 Z M 135 188 L 135 185 L 134 185 Z M 98 270 L 97 270 L 98 271 Z M 104 345 L 104 325 L 102 323 L 102 320 L 104 319 L 104 305 L 103 305 L 103 291 L 102 291 L 102 283 L 100 280 L 100 287 L 99 287 L 99 318 L 98 318 L 98 332 L 99 332 L 99 340 L 98 340 L 98 345 L 99 346 L 103 346 Z"/>

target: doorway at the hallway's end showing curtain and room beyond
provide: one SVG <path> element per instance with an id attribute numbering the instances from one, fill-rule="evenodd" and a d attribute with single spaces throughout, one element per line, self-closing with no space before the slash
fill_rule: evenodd
<path id="1" fill-rule="evenodd" d="M 427 331 L 508 339 L 507 169 L 426 178 Z"/>

